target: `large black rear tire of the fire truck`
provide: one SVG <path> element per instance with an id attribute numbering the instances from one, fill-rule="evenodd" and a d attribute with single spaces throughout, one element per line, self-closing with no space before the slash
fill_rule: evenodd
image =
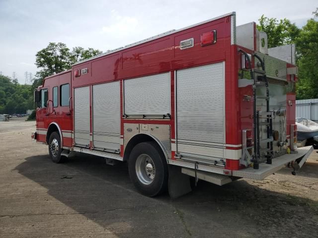
<path id="1" fill-rule="evenodd" d="M 141 179 L 142 169 L 140 172 L 137 172 L 138 168 L 143 168 L 141 165 L 139 167 L 139 161 L 144 158 L 145 155 L 149 156 L 151 162 L 149 162 L 148 157 L 145 160 L 145 169 L 144 172 L 147 174 L 149 170 L 146 169 L 149 163 L 154 165 L 154 168 L 151 166 L 152 169 L 155 169 L 155 175 L 153 180 L 150 178 L 150 174 L 148 174 L 150 180 L 152 180 L 149 184 L 145 183 L 145 180 Z M 138 160 L 138 162 L 137 162 Z M 149 162 L 149 163 L 148 163 Z M 136 165 L 137 163 L 137 165 Z M 166 159 L 155 142 L 142 142 L 137 144 L 130 153 L 129 161 L 128 161 L 128 169 L 129 169 L 129 176 L 132 182 L 134 183 L 135 187 L 138 191 L 146 196 L 156 196 L 162 192 L 167 190 L 168 186 L 168 167 L 166 163 Z M 144 178 L 144 177 L 143 177 Z M 149 182 L 149 181 L 148 181 Z"/>

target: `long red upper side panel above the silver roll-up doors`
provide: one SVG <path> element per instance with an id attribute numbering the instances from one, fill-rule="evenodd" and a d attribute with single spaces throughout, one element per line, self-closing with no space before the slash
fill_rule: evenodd
<path id="1" fill-rule="evenodd" d="M 217 30 L 217 43 L 201 46 L 201 34 Z M 194 38 L 194 47 L 180 50 L 181 40 Z M 110 55 L 89 60 L 72 67 L 88 68 L 88 73 L 73 79 L 73 87 L 94 83 L 134 78 L 159 72 L 173 71 L 225 60 L 225 51 L 231 45 L 231 24 L 225 18 L 186 29 Z M 91 72 L 89 72 L 91 64 Z M 84 77 L 83 77 L 84 76 Z"/>

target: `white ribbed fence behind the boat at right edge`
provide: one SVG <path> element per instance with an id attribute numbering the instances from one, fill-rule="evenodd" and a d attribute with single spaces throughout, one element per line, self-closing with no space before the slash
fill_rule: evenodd
<path id="1" fill-rule="evenodd" d="M 296 100 L 296 118 L 318 120 L 318 99 Z"/>

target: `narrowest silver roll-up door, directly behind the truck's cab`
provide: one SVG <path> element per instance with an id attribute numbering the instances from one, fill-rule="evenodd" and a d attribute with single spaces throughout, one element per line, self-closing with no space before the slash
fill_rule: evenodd
<path id="1" fill-rule="evenodd" d="M 74 89 L 74 141 L 89 146 L 90 111 L 89 86 Z"/>

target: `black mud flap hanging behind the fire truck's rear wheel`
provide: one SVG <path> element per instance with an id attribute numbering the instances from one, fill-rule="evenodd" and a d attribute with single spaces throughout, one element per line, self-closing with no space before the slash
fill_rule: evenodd
<path id="1" fill-rule="evenodd" d="M 168 165 L 168 192 L 172 199 L 192 191 L 190 177 L 181 173 L 181 167 Z"/>

